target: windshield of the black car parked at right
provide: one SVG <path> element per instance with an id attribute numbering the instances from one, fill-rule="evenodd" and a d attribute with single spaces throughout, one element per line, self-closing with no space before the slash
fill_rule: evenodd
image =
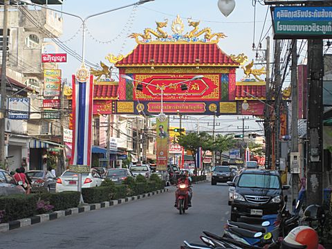
<path id="1" fill-rule="evenodd" d="M 237 185 L 239 187 L 257 187 L 275 190 L 279 190 L 280 188 L 278 176 L 269 174 L 242 174 Z"/>

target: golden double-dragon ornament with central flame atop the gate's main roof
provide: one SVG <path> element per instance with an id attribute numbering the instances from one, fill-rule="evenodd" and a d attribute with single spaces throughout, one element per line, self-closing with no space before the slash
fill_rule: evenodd
<path id="1" fill-rule="evenodd" d="M 192 21 L 188 19 L 188 26 L 192 27 L 190 32 L 184 32 L 183 20 L 179 15 L 176 16 L 176 19 L 172 22 L 172 35 L 167 34 L 163 29 L 167 27 L 168 20 L 164 22 L 156 21 L 157 28 L 153 30 L 151 28 L 145 28 L 143 33 L 132 33 L 129 35 L 131 38 L 135 38 L 138 44 L 165 44 L 165 43 L 204 43 L 204 44 L 216 44 L 219 42 L 219 39 L 227 37 L 224 33 L 212 33 L 211 28 L 203 28 L 199 30 L 200 21 Z M 156 39 L 152 39 L 153 35 Z M 203 37 L 201 37 L 203 36 Z M 142 39 L 139 39 L 142 38 Z"/>

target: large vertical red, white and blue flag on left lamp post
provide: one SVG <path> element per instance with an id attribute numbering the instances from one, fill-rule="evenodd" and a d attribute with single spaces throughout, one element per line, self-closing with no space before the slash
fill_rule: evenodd
<path id="1" fill-rule="evenodd" d="M 71 165 L 91 165 L 93 75 L 90 75 L 88 81 L 80 82 L 73 75 Z"/>

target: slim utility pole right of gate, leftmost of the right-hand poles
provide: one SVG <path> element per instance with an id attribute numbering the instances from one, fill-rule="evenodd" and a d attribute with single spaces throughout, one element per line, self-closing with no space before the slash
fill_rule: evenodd
<path id="1" fill-rule="evenodd" d="M 265 165 L 267 169 L 271 168 L 271 130 L 270 130 L 270 37 L 266 37 L 266 105 L 264 107 L 265 122 L 264 122 L 264 133 L 265 133 Z"/>

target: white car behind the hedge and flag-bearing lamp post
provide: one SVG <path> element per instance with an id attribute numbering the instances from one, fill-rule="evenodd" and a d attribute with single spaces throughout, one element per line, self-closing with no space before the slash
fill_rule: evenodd
<path id="1" fill-rule="evenodd" d="M 78 174 L 66 170 L 57 178 L 55 192 L 77 191 Z M 95 169 L 91 169 L 89 174 L 82 173 L 82 187 L 98 187 L 102 184 L 102 176 Z"/>

